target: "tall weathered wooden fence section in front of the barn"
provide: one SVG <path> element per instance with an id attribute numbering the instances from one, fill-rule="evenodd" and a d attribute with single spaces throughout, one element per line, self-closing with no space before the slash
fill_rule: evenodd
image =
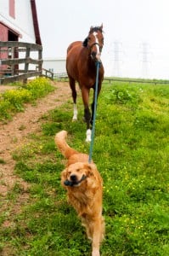
<path id="1" fill-rule="evenodd" d="M 32 51 L 37 52 L 37 59 L 31 57 Z M 25 53 L 25 57 L 20 58 L 20 53 Z M 19 69 L 20 64 L 24 64 L 24 69 Z M 32 65 L 36 65 L 33 70 Z M 40 75 L 42 75 L 42 45 L 14 41 L 0 42 L 0 84 L 17 80 L 26 83 L 28 78 Z"/>

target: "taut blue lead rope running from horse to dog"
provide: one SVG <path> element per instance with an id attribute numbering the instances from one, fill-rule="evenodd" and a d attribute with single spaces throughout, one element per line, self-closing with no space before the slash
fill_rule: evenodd
<path id="1" fill-rule="evenodd" d="M 99 83 L 99 67 L 101 61 L 97 61 L 97 69 L 96 69 L 96 87 L 95 87 L 95 95 L 94 95 L 94 114 L 93 114 L 93 127 L 92 127 L 92 137 L 90 143 L 90 150 L 89 150 L 89 158 L 88 162 L 91 163 L 92 154 L 93 154 L 93 143 L 94 143 L 94 131 L 95 131 L 95 120 L 96 120 L 96 109 L 97 109 L 97 100 L 98 100 L 98 83 Z"/>

